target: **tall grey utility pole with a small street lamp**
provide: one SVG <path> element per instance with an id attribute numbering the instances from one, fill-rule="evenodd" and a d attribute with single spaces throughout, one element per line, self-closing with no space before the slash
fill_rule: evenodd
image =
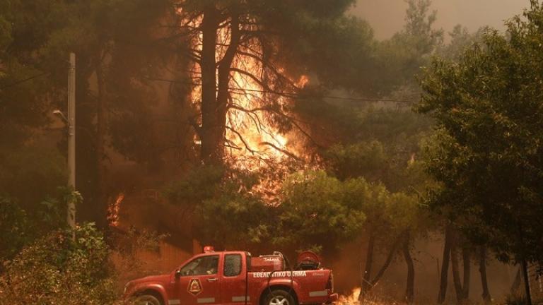
<path id="1" fill-rule="evenodd" d="M 68 71 L 68 186 L 72 191 L 76 189 L 76 54 L 70 53 L 70 67 Z M 71 196 L 73 197 L 73 196 Z M 68 202 L 68 225 L 76 227 L 76 203 L 74 198 Z"/>

